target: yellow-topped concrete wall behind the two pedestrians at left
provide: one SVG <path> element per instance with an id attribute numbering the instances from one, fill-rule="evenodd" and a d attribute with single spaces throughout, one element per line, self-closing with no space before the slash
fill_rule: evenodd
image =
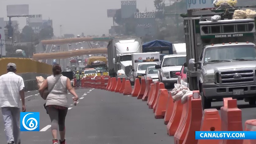
<path id="1" fill-rule="evenodd" d="M 25 91 L 37 90 L 36 76 L 47 78 L 52 74 L 52 65 L 40 63 L 28 58 L 1 58 L 0 75 L 6 74 L 6 66 L 8 63 L 15 63 L 17 66 L 17 75 L 24 80 Z"/>

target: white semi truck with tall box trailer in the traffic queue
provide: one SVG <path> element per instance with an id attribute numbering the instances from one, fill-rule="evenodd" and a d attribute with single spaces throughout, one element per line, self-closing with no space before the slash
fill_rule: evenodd
<path id="1" fill-rule="evenodd" d="M 132 53 L 142 53 L 141 37 L 122 37 L 112 39 L 108 46 L 109 75 L 127 78 L 132 65 Z"/>

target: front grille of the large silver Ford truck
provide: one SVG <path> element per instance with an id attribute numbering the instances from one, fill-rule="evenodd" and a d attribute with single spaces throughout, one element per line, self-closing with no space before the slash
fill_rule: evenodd
<path id="1" fill-rule="evenodd" d="M 219 84 L 243 84 L 251 83 L 255 79 L 254 70 L 219 71 L 216 73 L 216 81 Z"/>

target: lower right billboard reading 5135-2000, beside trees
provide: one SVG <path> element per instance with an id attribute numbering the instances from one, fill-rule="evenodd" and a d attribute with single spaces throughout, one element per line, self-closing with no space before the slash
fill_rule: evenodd
<path id="1" fill-rule="evenodd" d="M 155 12 L 134 13 L 136 36 L 153 36 L 157 32 Z"/>

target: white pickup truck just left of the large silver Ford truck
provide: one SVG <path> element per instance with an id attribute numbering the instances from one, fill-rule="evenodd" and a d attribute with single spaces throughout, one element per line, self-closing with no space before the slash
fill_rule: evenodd
<path id="1" fill-rule="evenodd" d="M 156 66 L 156 69 L 159 69 L 159 81 L 163 82 L 165 87 L 173 87 L 178 80 L 178 76 L 175 73 L 181 70 L 186 60 L 187 55 L 185 54 L 165 55 L 161 64 Z"/>

